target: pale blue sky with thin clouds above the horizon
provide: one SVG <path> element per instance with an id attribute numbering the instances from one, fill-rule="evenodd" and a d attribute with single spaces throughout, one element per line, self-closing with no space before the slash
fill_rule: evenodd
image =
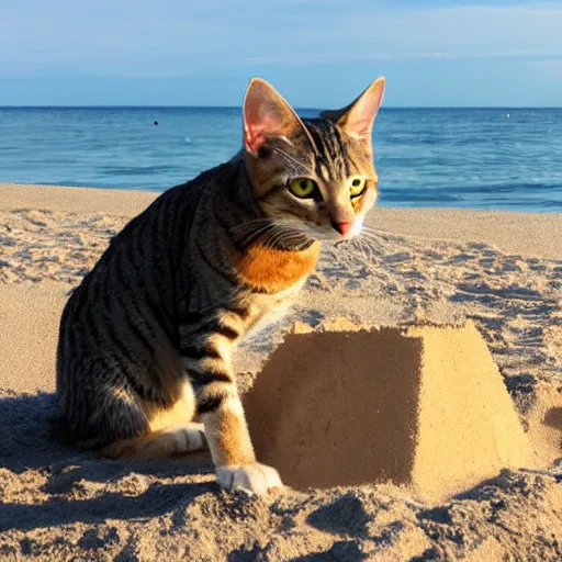
<path id="1" fill-rule="evenodd" d="M 562 1 L 0 0 L 0 105 L 562 105 Z"/>

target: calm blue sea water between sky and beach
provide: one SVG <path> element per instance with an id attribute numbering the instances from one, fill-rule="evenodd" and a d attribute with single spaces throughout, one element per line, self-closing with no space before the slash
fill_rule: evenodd
<path id="1" fill-rule="evenodd" d="M 380 205 L 562 212 L 562 109 L 383 108 L 373 137 Z M 232 108 L 0 108 L 0 181 L 162 191 L 240 142 Z"/>

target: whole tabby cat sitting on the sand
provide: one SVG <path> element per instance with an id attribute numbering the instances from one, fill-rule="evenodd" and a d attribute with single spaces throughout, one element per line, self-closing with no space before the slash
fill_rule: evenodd
<path id="1" fill-rule="evenodd" d="M 283 307 L 319 243 L 357 235 L 376 199 L 375 80 L 300 119 L 266 81 L 244 99 L 244 149 L 162 193 L 112 240 L 63 312 L 57 394 L 82 446 L 109 458 L 211 450 L 218 484 L 265 494 L 231 355 Z"/>

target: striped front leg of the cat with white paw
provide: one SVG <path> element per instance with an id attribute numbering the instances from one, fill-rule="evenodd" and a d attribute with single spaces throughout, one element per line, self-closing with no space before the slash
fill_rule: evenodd
<path id="1" fill-rule="evenodd" d="M 187 328 L 181 331 L 187 334 Z M 283 484 L 276 469 L 256 461 L 231 367 L 235 334 L 234 328 L 222 326 L 199 342 L 190 334 L 180 352 L 195 391 L 196 412 L 205 426 L 218 484 L 263 495 Z"/>

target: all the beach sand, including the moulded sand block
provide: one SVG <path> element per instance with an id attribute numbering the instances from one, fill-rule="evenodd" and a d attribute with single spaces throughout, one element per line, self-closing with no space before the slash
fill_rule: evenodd
<path id="1" fill-rule="evenodd" d="M 325 247 L 289 316 L 235 359 L 248 405 L 272 389 L 289 401 L 277 434 L 273 418 L 259 432 L 248 407 L 257 449 L 285 462 L 297 487 L 256 498 L 220 492 L 204 454 L 99 460 L 57 431 L 54 357 L 68 291 L 155 196 L 0 183 L 1 560 L 562 558 L 562 215 L 375 210 L 371 234 Z M 280 368 L 306 347 L 291 348 L 299 337 L 306 389 Z M 340 346 L 339 368 L 322 346 Z M 396 372 L 367 380 L 392 352 Z M 396 413 L 372 437 L 371 396 Z M 325 429 L 324 417 L 337 425 Z M 335 443 L 331 463 L 321 430 Z M 295 435 L 302 442 L 286 450 Z M 485 480 L 456 488 L 476 435 L 470 459 Z M 384 457 L 369 449 L 375 438 Z M 315 446 L 316 465 L 305 454 Z M 293 456 L 304 464 L 290 474 Z M 360 483 L 371 474 L 385 481 Z M 306 487 L 313 481 L 340 485 Z"/>

